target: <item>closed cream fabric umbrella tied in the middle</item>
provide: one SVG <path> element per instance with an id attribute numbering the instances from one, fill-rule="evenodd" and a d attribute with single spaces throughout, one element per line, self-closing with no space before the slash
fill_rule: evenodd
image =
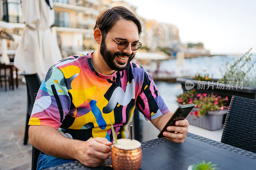
<path id="1" fill-rule="evenodd" d="M 25 23 L 14 57 L 14 65 L 26 74 L 37 73 L 43 80 L 48 69 L 61 60 L 57 38 L 50 29 L 54 21 L 52 0 L 23 0 Z"/>

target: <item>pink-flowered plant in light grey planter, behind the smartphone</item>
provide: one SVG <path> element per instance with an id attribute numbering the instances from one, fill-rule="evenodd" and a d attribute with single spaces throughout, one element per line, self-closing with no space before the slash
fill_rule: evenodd
<path id="1" fill-rule="evenodd" d="M 228 112 L 228 97 L 222 99 L 217 94 L 198 93 L 196 89 L 185 91 L 176 97 L 180 105 L 195 105 L 186 118 L 189 124 L 208 130 L 221 128 L 223 115 Z"/>

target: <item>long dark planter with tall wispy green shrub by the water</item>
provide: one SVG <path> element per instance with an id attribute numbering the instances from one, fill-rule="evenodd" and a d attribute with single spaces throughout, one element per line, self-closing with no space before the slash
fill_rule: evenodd
<path id="1" fill-rule="evenodd" d="M 220 69 L 222 78 L 210 78 L 209 74 L 196 74 L 193 77 L 177 78 L 184 91 L 195 88 L 197 92 L 214 93 L 221 97 L 228 96 L 229 101 L 233 95 L 256 100 L 256 72 L 250 51 L 238 58 L 234 63 L 227 62 Z"/>

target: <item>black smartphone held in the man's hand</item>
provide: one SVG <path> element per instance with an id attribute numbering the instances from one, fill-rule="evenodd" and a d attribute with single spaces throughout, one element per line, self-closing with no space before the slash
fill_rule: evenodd
<path id="1" fill-rule="evenodd" d="M 157 137 L 165 137 L 163 135 L 164 131 L 167 131 L 168 126 L 175 126 L 175 122 L 179 120 L 184 120 L 188 114 L 191 112 L 191 110 L 195 107 L 194 104 L 188 104 L 188 105 L 182 105 L 177 108 L 177 110 L 174 112 L 170 120 L 166 123 L 164 126 L 164 129 L 159 133 Z M 174 133 L 174 131 L 172 132 Z"/>

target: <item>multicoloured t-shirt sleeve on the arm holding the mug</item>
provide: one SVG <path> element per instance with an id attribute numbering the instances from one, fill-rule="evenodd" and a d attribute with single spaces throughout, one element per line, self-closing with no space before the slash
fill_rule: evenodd
<path id="1" fill-rule="evenodd" d="M 70 104 L 66 79 L 61 70 L 52 66 L 39 88 L 28 124 L 58 129 Z"/>

